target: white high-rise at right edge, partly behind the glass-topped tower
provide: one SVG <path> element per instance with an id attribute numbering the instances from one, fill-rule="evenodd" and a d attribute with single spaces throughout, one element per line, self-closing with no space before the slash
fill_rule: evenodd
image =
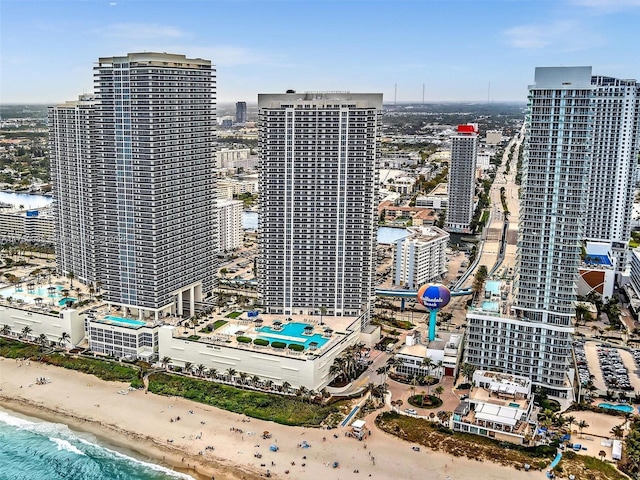
<path id="1" fill-rule="evenodd" d="M 627 245 L 640 152 L 640 84 L 594 76 L 593 146 L 585 237 L 611 244 L 617 271 L 628 266 Z"/>

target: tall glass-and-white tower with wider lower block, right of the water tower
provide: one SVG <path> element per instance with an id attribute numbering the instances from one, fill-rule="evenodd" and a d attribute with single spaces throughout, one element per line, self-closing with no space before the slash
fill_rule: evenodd
<path id="1" fill-rule="evenodd" d="M 513 305 L 470 310 L 465 361 L 573 398 L 571 341 L 591 165 L 591 67 L 536 68 L 529 87 Z"/>

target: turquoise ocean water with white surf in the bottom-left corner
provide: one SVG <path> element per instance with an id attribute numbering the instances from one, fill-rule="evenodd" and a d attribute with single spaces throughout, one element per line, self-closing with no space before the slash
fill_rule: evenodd
<path id="1" fill-rule="evenodd" d="M 0 480 L 193 480 L 90 434 L 0 409 Z"/>

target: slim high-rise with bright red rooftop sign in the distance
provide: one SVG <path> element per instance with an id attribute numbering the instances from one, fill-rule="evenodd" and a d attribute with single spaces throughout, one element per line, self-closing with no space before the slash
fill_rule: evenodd
<path id="1" fill-rule="evenodd" d="M 449 163 L 449 206 L 445 230 L 469 233 L 473 219 L 476 193 L 476 156 L 478 153 L 478 126 L 458 125 L 451 137 Z"/>

